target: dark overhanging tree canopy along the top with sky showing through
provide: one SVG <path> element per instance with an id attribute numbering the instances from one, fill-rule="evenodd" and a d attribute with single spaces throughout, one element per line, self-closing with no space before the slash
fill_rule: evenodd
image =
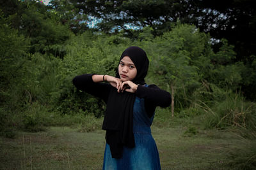
<path id="1" fill-rule="evenodd" d="M 138 38 L 145 27 L 154 29 L 154 36 L 173 29 L 172 23 L 196 25 L 200 31 L 209 32 L 212 38 L 222 38 L 235 45 L 240 61 L 255 55 L 255 4 L 252 0 L 145 0 L 145 1 L 68 1 L 84 15 L 90 15 L 99 23 L 95 29 Z M 54 8 L 58 8 L 57 3 Z M 67 9 L 68 11 L 68 9 Z M 67 12 L 69 13 L 69 12 Z M 225 15 L 225 17 L 223 17 Z M 129 25 L 129 26 L 127 26 Z M 137 29 L 133 31 L 130 27 Z M 138 31 L 139 30 L 139 31 Z M 216 50 L 218 51 L 218 46 Z"/>

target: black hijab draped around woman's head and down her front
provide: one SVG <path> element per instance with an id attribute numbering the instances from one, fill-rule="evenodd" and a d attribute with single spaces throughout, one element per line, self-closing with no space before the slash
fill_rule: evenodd
<path id="1" fill-rule="evenodd" d="M 130 46 L 122 53 L 120 60 L 125 56 L 130 57 L 137 69 L 136 77 L 132 82 L 145 84 L 144 78 L 147 76 L 149 64 L 145 51 L 138 46 Z M 118 69 L 116 78 L 120 78 Z M 109 92 L 102 129 L 106 130 L 106 142 L 110 146 L 113 158 L 122 157 L 123 146 L 130 148 L 135 146 L 132 128 L 135 97 L 135 94 L 131 92 L 118 93 L 114 87 Z"/>

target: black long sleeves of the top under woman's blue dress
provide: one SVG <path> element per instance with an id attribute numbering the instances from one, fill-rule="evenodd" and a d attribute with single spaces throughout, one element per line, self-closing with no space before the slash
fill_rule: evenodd
<path id="1" fill-rule="evenodd" d="M 109 83 L 95 83 L 92 80 L 93 74 L 82 74 L 73 79 L 73 84 L 77 89 L 92 94 L 93 96 L 108 102 L 110 88 Z M 145 99 L 145 110 L 148 117 L 152 117 L 157 106 L 166 108 L 171 104 L 171 96 L 169 92 L 159 89 L 156 85 L 148 85 L 148 87 L 139 85 L 135 95 Z"/>

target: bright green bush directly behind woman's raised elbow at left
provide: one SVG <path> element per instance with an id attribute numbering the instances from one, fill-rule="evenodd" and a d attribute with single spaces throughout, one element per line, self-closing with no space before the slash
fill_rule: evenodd
<path id="1" fill-rule="evenodd" d="M 70 39 L 66 46 L 67 55 L 59 66 L 59 90 L 52 93 L 58 110 L 62 113 L 83 110 L 94 113 L 96 117 L 103 114 L 104 103 L 84 92 L 79 92 L 72 85 L 72 79 L 86 73 L 115 76 L 118 59 L 125 47 L 116 45 L 113 43 L 114 40 L 113 37 L 97 36 L 92 32 L 84 32 L 81 36 Z"/>

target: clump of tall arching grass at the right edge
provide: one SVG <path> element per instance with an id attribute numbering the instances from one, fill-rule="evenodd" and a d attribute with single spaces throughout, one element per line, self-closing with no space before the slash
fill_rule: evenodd
<path id="1" fill-rule="evenodd" d="M 225 100 L 216 102 L 211 108 L 202 101 L 197 106 L 205 111 L 203 122 L 206 129 L 256 129 L 256 105 L 245 101 L 239 94 L 228 94 Z"/>

